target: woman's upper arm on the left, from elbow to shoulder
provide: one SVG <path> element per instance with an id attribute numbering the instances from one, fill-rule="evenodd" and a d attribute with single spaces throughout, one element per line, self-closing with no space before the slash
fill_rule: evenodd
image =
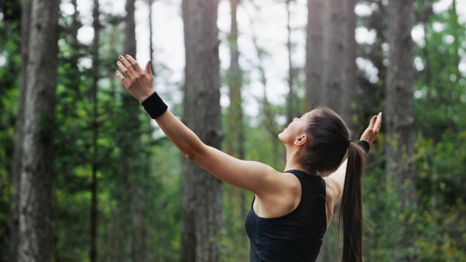
<path id="1" fill-rule="evenodd" d="M 204 145 L 190 159 L 222 181 L 244 188 L 256 195 L 264 195 L 273 191 L 276 193 L 277 190 L 286 186 L 286 181 L 283 176 L 280 176 L 280 172 L 269 165 L 239 160 L 212 146 Z"/>

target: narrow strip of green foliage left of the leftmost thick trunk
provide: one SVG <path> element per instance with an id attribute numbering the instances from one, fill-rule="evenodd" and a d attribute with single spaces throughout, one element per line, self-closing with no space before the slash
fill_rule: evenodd
<path id="1" fill-rule="evenodd" d="M 11 216 L 11 160 L 15 142 L 15 116 L 18 111 L 20 14 L 18 3 L 0 6 L 0 261 L 8 254 L 8 223 Z"/>

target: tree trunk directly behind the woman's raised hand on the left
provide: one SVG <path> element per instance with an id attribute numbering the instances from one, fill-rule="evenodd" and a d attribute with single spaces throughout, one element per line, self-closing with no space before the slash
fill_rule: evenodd
<path id="1" fill-rule="evenodd" d="M 135 0 L 126 1 L 125 17 L 125 42 L 123 45 L 123 55 L 136 57 L 136 24 L 135 24 Z M 120 223 L 123 234 L 126 232 L 129 242 L 121 242 L 123 250 L 130 249 L 131 261 L 146 261 L 145 248 L 145 223 L 144 223 L 144 188 L 140 184 L 144 180 L 142 165 L 145 165 L 142 158 L 141 130 L 142 123 L 139 120 L 141 105 L 137 99 L 130 95 L 124 85 L 121 85 L 123 116 L 123 140 L 121 141 L 121 179 L 122 188 L 125 191 L 122 198 L 121 212 L 123 217 Z M 123 235 L 123 237 L 125 237 Z M 128 253 L 127 253 L 128 254 Z M 121 254 L 126 258 L 125 254 Z M 119 259 L 121 260 L 121 259 Z"/>

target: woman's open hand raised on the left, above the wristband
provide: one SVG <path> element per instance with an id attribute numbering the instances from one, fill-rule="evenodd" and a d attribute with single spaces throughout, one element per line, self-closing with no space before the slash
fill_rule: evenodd
<path id="1" fill-rule="evenodd" d="M 130 55 L 126 58 L 120 55 L 120 61 L 116 62 L 121 71 L 116 71 L 116 75 L 125 85 L 126 89 L 130 91 L 133 97 L 136 97 L 140 102 L 143 102 L 147 97 L 153 94 L 153 75 L 151 71 L 151 61 L 146 64 L 146 72 L 142 71 L 139 64 Z"/>

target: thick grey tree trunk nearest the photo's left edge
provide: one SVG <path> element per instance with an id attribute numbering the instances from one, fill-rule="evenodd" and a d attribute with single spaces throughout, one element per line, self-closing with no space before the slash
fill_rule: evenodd
<path id="1" fill-rule="evenodd" d="M 58 0 L 32 1 L 18 261 L 50 261 Z"/>

